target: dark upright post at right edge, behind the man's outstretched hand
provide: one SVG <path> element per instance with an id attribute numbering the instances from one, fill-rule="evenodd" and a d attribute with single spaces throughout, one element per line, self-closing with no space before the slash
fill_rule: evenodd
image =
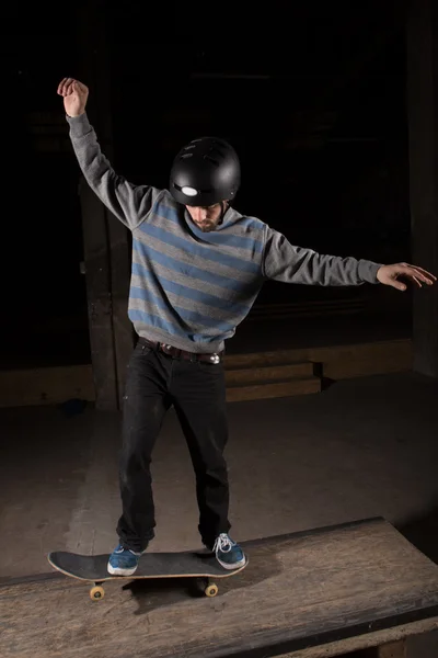
<path id="1" fill-rule="evenodd" d="M 408 2 L 407 116 L 412 260 L 438 273 L 438 7 Z M 438 376 L 438 286 L 414 292 L 414 370 Z"/>

